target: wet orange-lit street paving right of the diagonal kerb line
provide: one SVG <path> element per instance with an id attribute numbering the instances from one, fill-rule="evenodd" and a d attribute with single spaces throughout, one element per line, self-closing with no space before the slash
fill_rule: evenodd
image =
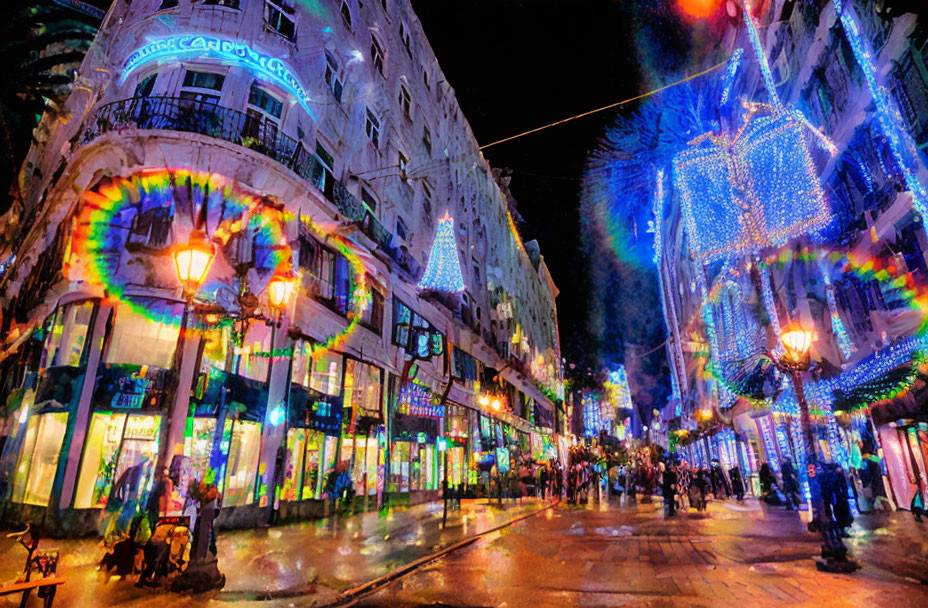
<path id="1" fill-rule="evenodd" d="M 898 566 L 921 563 L 924 572 L 928 528 L 916 528 L 907 513 L 878 519 L 862 517 L 855 529 L 852 550 L 863 568 L 847 576 L 815 569 L 818 539 L 804 531 L 795 512 L 756 501 L 715 502 L 707 513 L 671 519 L 659 500 L 552 509 L 442 557 L 356 605 L 928 606 L 928 587 Z"/>

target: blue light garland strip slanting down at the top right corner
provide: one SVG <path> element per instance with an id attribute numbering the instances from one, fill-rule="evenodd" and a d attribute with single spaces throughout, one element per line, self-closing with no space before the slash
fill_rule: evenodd
<path id="1" fill-rule="evenodd" d="M 906 155 L 910 159 L 918 158 L 918 152 L 915 149 L 912 137 L 903 124 L 902 116 L 892 96 L 877 82 L 876 69 L 873 66 L 874 55 L 869 43 L 861 34 L 853 10 L 849 6 L 845 7 L 841 0 L 834 0 L 834 7 L 844 29 L 845 37 L 851 47 L 851 52 L 854 54 L 854 59 L 863 73 L 867 89 L 869 89 L 870 96 L 873 98 L 877 122 L 889 143 L 889 150 L 892 153 L 893 160 L 896 161 L 899 171 L 902 172 L 906 187 L 912 192 L 912 204 L 915 210 L 918 211 L 922 218 L 925 218 L 928 215 L 928 192 L 918 181 L 915 172 L 909 167 L 909 162 L 906 161 Z M 917 161 L 913 160 L 913 162 Z"/>

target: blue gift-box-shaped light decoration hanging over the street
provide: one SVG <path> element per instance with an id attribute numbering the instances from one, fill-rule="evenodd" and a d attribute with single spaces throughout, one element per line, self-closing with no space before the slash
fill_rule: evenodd
<path id="1" fill-rule="evenodd" d="M 707 133 L 677 154 L 674 185 L 692 253 L 710 262 L 824 226 L 829 214 L 809 153 L 813 138 L 833 149 L 798 112 L 752 103 L 734 136 Z"/>

